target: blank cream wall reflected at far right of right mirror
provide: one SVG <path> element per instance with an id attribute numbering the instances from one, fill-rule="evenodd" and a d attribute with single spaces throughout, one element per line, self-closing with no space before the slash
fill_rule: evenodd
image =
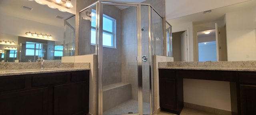
<path id="1" fill-rule="evenodd" d="M 227 13 L 226 34 L 228 61 L 255 61 L 256 7 Z"/>

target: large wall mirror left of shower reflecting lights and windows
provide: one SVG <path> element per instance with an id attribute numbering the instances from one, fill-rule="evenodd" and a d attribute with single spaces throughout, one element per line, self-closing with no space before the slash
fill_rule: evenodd
<path id="1" fill-rule="evenodd" d="M 35 0 L 0 0 L 0 62 L 35 62 L 42 56 L 46 62 L 59 62 L 65 56 L 63 49 L 74 47 L 74 17 Z M 69 28 L 64 28 L 65 24 Z M 65 29 L 68 32 L 64 34 Z M 66 44 L 65 36 L 72 37 Z M 72 52 L 66 52 L 69 55 Z"/>

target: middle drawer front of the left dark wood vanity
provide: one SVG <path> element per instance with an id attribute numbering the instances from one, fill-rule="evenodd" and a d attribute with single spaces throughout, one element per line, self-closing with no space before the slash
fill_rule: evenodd
<path id="1" fill-rule="evenodd" d="M 66 83 L 68 81 L 68 74 L 52 73 L 50 75 L 33 76 L 32 79 L 32 87 L 52 85 L 57 83 Z"/>

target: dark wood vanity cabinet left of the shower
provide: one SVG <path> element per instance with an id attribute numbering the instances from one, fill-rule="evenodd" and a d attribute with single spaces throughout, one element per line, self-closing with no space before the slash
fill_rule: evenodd
<path id="1" fill-rule="evenodd" d="M 0 77 L 0 115 L 86 115 L 89 70 Z"/>

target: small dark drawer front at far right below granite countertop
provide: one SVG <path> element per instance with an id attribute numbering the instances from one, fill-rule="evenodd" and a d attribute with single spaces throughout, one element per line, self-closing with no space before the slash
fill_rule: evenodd
<path id="1" fill-rule="evenodd" d="M 256 84 L 256 74 L 254 73 L 239 73 L 240 83 Z"/>

